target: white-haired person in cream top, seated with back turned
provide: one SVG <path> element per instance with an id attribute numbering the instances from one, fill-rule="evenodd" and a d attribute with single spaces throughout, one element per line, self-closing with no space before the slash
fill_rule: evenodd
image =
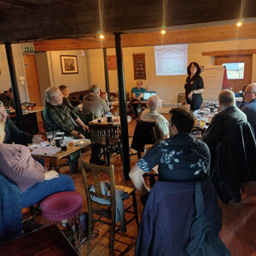
<path id="1" fill-rule="evenodd" d="M 169 122 L 167 119 L 160 113 L 158 109 L 162 108 L 162 101 L 159 96 L 151 96 L 147 101 L 148 108 L 143 111 L 141 120 L 143 121 L 156 121 L 158 126 L 158 137 L 160 139 L 169 137 Z"/>

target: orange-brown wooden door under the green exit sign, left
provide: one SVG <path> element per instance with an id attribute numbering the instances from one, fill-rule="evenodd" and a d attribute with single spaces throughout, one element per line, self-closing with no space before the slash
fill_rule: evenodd
<path id="1" fill-rule="evenodd" d="M 30 102 L 35 102 L 37 106 L 42 106 L 38 67 L 35 55 L 23 55 L 26 70 L 26 83 Z M 41 114 L 37 113 L 38 121 L 41 121 Z"/>

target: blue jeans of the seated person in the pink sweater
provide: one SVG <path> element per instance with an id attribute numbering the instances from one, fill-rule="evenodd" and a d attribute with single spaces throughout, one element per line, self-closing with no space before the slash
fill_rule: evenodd
<path id="1" fill-rule="evenodd" d="M 73 178 L 71 176 L 60 174 L 51 180 L 43 183 L 36 183 L 21 193 L 21 207 L 31 207 L 42 201 L 48 195 L 62 191 L 74 191 Z"/>

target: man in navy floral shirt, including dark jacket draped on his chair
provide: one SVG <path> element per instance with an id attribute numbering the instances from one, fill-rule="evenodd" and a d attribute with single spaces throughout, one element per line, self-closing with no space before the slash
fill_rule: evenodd
<path id="1" fill-rule="evenodd" d="M 194 181 L 201 181 L 206 193 L 205 214 L 210 229 L 218 236 L 221 214 L 217 195 L 209 177 L 210 152 L 206 143 L 195 141 L 189 134 L 194 126 L 193 113 L 187 109 L 170 111 L 170 138 L 154 144 L 129 176 L 142 201 L 148 201 L 137 238 L 136 255 L 185 255 L 189 230 L 195 215 Z M 159 165 L 159 182 L 152 191 L 143 174 Z M 155 190 L 157 188 L 157 191 Z M 153 193 L 153 194 L 151 194 Z M 148 196 L 149 195 L 149 196 Z"/>

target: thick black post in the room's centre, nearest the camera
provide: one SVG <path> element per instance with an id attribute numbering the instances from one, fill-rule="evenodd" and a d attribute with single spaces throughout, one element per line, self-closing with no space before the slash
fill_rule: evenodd
<path id="1" fill-rule="evenodd" d="M 123 170 L 124 170 L 124 178 L 125 180 L 128 180 L 129 172 L 130 172 L 130 152 L 129 152 L 126 98 L 125 98 L 123 54 L 122 54 L 120 35 L 121 35 L 120 32 L 114 33 L 117 73 L 118 73 L 118 83 L 119 83 L 119 115 L 121 119 L 121 131 L 122 131 L 121 139 L 122 139 L 122 145 L 123 145 Z"/>

